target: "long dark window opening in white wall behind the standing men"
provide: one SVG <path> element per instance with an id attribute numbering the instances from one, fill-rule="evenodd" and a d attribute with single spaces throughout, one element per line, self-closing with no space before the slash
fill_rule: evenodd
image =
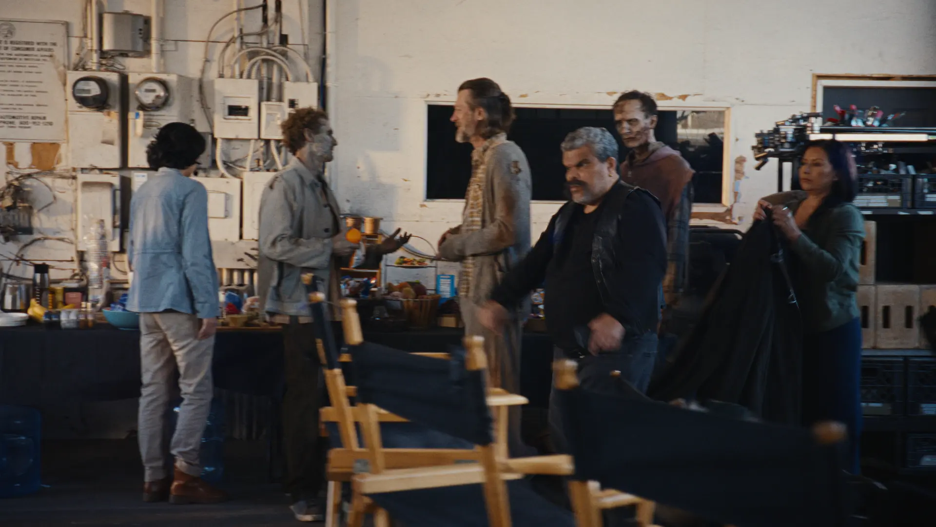
<path id="1" fill-rule="evenodd" d="M 515 112 L 517 120 L 507 138 L 523 149 L 530 163 L 534 201 L 566 200 L 559 145 L 569 132 L 606 128 L 620 145 L 619 159 L 628 153 L 610 109 L 517 108 Z M 455 141 L 451 115 L 451 105 L 427 105 L 427 200 L 461 200 L 471 179 L 472 145 Z M 679 151 L 695 170 L 695 203 L 722 203 L 724 110 L 661 111 L 656 139 Z"/>

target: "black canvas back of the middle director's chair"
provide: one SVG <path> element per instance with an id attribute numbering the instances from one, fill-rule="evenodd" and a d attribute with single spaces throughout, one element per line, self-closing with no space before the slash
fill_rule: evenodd
<path id="1" fill-rule="evenodd" d="M 463 349 L 450 353 L 450 360 L 439 360 L 371 342 L 352 347 L 358 401 L 472 444 L 491 444 L 484 370 L 466 369 Z"/>

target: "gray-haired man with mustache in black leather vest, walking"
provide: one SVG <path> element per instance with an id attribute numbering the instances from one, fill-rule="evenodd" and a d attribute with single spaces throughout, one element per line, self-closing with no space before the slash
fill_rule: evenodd
<path id="1" fill-rule="evenodd" d="M 497 331 L 507 309 L 546 281 L 547 327 L 556 358 L 578 360 L 586 389 L 608 389 L 612 371 L 640 392 L 650 384 L 666 271 L 660 203 L 618 176 L 618 144 L 605 128 L 579 128 L 562 144 L 565 203 L 526 258 L 481 309 Z M 553 394 L 554 395 L 554 394 Z M 553 446 L 567 451 L 550 397 Z"/>

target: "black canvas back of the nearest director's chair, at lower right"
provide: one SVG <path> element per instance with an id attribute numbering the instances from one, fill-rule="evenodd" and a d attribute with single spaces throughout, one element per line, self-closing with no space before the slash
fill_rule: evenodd
<path id="1" fill-rule="evenodd" d="M 840 444 L 812 431 L 584 389 L 558 391 L 578 480 L 745 527 L 836 527 Z"/>

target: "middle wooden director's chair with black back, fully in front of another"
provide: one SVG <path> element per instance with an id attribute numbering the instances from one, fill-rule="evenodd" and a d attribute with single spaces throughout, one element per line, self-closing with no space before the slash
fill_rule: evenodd
<path id="1" fill-rule="evenodd" d="M 453 354 L 450 361 L 369 344 L 353 348 L 351 354 L 368 452 L 367 470 L 353 477 L 351 527 L 361 525 L 364 514 L 374 507 L 388 511 L 407 527 L 596 527 L 599 523 L 582 520 L 600 518 L 601 508 L 623 505 L 637 505 L 643 512 L 641 518 L 652 516 L 650 502 L 593 485 L 579 489 L 587 499 L 573 496 L 575 516 L 534 491 L 523 475 L 573 475 L 572 459 L 564 455 L 508 459 L 505 449 L 495 446 L 492 409 L 485 391 L 487 359 L 480 337 L 466 338 L 463 355 Z M 380 434 L 381 410 L 472 442 L 477 461 L 389 468 Z M 380 527 L 386 517 L 376 515 L 375 519 Z M 649 519 L 639 522 L 641 526 L 649 523 Z"/>

